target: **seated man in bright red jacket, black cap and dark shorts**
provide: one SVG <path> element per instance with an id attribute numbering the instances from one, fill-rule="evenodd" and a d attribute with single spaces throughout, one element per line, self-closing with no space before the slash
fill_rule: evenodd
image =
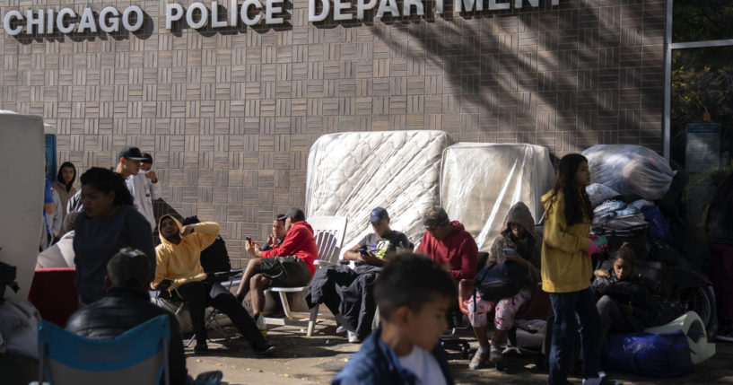
<path id="1" fill-rule="evenodd" d="M 318 258 L 319 248 L 313 237 L 313 229 L 305 222 L 305 214 L 299 208 L 291 208 L 283 218 L 285 239 L 280 245 L 262 251 L 254 241 L 245 241 L 244 246 L 253 258 L 249 260 L 242 276 L 237 297 L 242 300 L 250 293 L 252 311 L 258 327 L 265 309 L 265 289 L 269 286 L 305 286 L 316 271 L 313 261 Z"/>

